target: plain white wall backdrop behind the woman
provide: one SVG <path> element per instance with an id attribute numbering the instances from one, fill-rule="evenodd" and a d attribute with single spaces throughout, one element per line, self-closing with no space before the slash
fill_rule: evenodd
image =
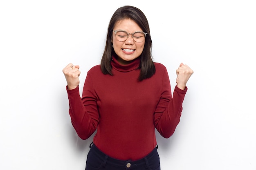
<path id="1" fill-rule="evenodd" d="M 189 80 L 173 136 L 157 133 L 162 170 L 256 170 L 254 0 L 0 1 L 0 169 L 83 170 L 92 137 L 68 114 L 62 69 L 99 64 L 114 11 L 144 11 L 153 57 L 172 87 Z M 173 89 L 172 89 L 173 90 Z"/>

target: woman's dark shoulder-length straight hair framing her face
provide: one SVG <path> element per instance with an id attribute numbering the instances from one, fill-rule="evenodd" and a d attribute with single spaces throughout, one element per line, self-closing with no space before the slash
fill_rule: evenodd
<path id="1" fill-rule="evenodd" d="M 112 48 L 112 35 L 115 24 L 120 20 L 131 19 L 135 21 L 142 31 L 148 33 L 145 38 L 144 49 L 140 55 L 140 65 L 137 69 L 140 69 L 140 75 L 138 77 L 139 81 L 152 77 L 155 74 L 155 64 L 152 60 L 151 49 L 152 49 L 152 40 L 150 36 L 149 24 L 144 13 L 132 6 L 120 7 L 115 11 L 110 19 L 108 25 L 108 33 L 106 38 L 106 46 L 101 58 L 101 71 L 103 74 L 113 75 L 111 60 L 112 56 L 116 55 L 114 49 Z"/>

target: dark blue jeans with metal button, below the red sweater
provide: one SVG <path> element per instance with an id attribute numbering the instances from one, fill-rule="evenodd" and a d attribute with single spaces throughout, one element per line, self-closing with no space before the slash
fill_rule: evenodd
<path id="1" fill-rule="evenodd" d="M 109 157 L 92 145 L 88 152 L 85 170 L 160 170 L 157 148 L 143 159 L 121 161 Z"/>

